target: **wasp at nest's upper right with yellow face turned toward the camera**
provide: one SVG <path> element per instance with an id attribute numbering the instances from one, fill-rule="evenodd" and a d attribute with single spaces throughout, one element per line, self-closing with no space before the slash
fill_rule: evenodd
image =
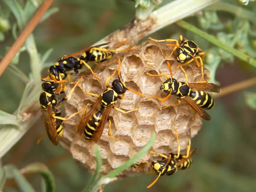
<path id="1" fill-rule="evenodd" d="M 198 82 L 207 83 L 209 81 L 209 79 L 207 81 L 202 81 L 204 79 L 203 60 L 204 60 L 205 52 L 202 49 L 200 49 L 194 41 L 188 41 L 187 39 L 183 38 L 182 35 L 180 35 L 180 38 L 178 41 L 176 39 L 165 39 L 165 40 L 157 40 L 157 39 L 153 39 L 153 38 L 149 38 L 149 39 L 153 40 L 153 41 L 157 41 L 157 42 L 175 41 L 176 44 L 166 44 L 166 46 L 174 47 L 171 54 L 169 56 L 166 56 L 166 58 L 172 57 L 172 54 L 177 49 L 177 53 L 178 53 L 177 62 L 180 63 L 179 66 L 177 66 L 177 67 L 180 67 L 183 70 L 183 67 L 182 67 L 183 65 L 186 65 L 186 64 L 191 63 L 192 61 L 195 61 L 198 67 L 201 66 L 202 77 L 201 77 L 200 81 L 198 81 Z M 197 59 L 200 60 L 200 65 L 199 65 L 199 62 Z M 184 73 L 186 81 L 187 81 L 187 79 L 188 79 L 187 74 L 184 70 L 183 70 L 183 73 Z"/>

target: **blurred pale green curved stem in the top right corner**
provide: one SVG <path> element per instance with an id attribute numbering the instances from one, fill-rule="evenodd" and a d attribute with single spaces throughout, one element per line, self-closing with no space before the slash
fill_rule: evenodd
<path id="1" fill-rule="evenodd" d="M 256 14 L 253 12 L 250 12 L 247 9 L 244 9 L 241 6 L 236 6 L 236 5 L 232 5 L 229 3 L 217 2 L 217 3 L 214 3 L 210 6 L 208 6 L 204 10 L 230 12 L 238 17 L 250 20 L 252 23 L 254 23 L 256 25 L 256 20 L 255 20 Z"/>

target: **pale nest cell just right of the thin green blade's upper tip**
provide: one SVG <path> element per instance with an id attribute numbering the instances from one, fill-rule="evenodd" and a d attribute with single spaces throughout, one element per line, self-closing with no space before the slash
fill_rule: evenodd
<path id="1" fill-rule="evenodd" d="M 163 130 L 163 131 L 160 131 L 157 133 L 157 139 L 154 143 L 154 149 L 157 149 L 155 151 L 157 151 L 157 153 L 160 153 L 158 152 L 160 147 L 163 147 L 163 146 L 168 146 L 169 148 L 169 140 L 170 138 L 172 137 L 172 131 L 171 130 Z M 175 137 L 173 135 L 173 137 Z M 166 150 L 165 150 L 166 151 Z"/>

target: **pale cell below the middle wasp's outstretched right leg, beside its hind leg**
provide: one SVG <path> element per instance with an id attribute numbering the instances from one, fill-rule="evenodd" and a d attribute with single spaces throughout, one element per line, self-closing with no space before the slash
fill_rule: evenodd
<path id="1" fill-rule="evenodd" d="M 116 113 L 113 114 L 113 121 L 115 122 L 117 135 L 129 135 L 131 130 L 138 125 L 135 112 L 124 114 L 116 111 Z"/>

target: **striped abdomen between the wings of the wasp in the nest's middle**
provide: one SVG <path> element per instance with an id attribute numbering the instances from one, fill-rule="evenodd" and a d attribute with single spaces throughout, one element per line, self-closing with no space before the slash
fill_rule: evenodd
<path id="1" fill-rule="evenodd" d="M 96 111 L 91 116 L 89 122 L 84 128 L 84 138 L 86 140 L 90 140 L 93 136 L 94 131 L 96 130 L 97 126 L 99 125 L 100 120 L 102 119 L 102 111 Z"/>

